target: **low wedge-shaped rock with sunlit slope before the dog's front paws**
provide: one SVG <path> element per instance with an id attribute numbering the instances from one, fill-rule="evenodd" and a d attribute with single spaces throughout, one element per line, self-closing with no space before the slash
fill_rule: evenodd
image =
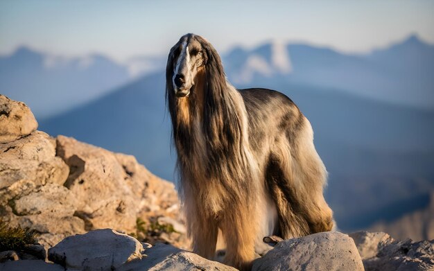
<path id="1" fill-rule="evenodd" d="M 236 270 L 223 263 L 209 261 L 197 254 L 162 243 L 145 250 L 145 254 L 141 261 L 130 261 L 122 265 L 119 270 Z"/>

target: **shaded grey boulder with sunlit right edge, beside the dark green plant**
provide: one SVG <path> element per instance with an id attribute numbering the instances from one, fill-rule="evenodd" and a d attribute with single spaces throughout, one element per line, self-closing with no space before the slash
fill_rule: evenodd
<path id="1" fill-rule="evenodd" d="M 112 229 L 69 236 L 49 249 L 49 260 L 68 270 L 113 270 L 142 258 L 136 239 Z"/>

